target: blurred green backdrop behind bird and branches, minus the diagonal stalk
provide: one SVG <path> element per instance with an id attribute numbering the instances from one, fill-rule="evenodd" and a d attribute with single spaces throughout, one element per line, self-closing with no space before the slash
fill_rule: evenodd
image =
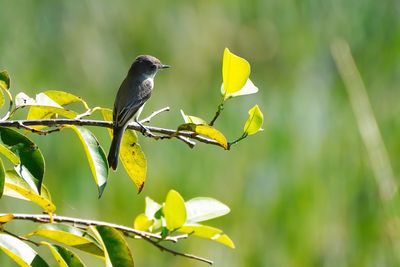
<path id="1" fill-rule="evenodd" d="M 234 240 L 231 250 L 189 239 L 182 251 L 215 266 L 399 266 L 375 177 L 343 82 L 330 54 L 345 38 L 367 87 L 395 175 L 400 171 L 400 2 L 386 1 L 0 1 L 0 69 L 12 92 L 61 89 L 91 106 L 112 107 L 138 54 L 173 66 L 159 73 L 144 115 L 176 127 L 186 114 L 210 120 L 220 100 L 224 47 L 246 58 L 256 95 L 230 100 L 216 123 L 240 136 L 259 104 L 265 131 L 231 151 L 141 138 L 148 159 L 137 195 L 120 168 L 97 199 L 83 149 L 68 130 L 30 134 L 46 158 L 45 184 L 57 214 L 132 225 L 144 197 L 169 189 L 231 207 L 210 221 Z M 104 129 L 93 129 L 105 150 Z M 400 203 L 395 203 L 400 205 Z M 3 198 L 1 212 L 40 212 Z M 31 224 L 15 223 L 22 233 Z M 11 228 L 10 228 L 11 229 Z M 397 235 L 399 237 L 399 235 Z M 130 241 L 137 266 L 205 266 Z M 83 254 L 81 254 L 83 255 Z M 88 266 L 97 266 L 83 255 Z M 0 253 L 1 266 L 13 266 Z"/>

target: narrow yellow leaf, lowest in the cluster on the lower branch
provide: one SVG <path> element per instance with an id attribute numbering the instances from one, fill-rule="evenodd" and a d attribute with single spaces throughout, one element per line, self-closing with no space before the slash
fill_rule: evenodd
<path id="1" fill-rule="evenodd" d="M 201 224 L 185 224 L 184 226 L 179 228 L 178 231 L 181 233 L 207 238 L 224 244 L 225 246 L 228 246 L 230 248 L 235 248 L 235 244 L 233 243 L 233 241 L 226 234 L 224 234 L 222 230 L 218 228 Z"/>

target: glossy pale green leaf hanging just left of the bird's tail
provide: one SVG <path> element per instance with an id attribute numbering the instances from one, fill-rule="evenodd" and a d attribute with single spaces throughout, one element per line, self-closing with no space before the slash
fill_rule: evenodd
<path id="1" fill-rule="evenodd" d="M 83 149 L 89 162 L 90 170 L 99 190 L 99 197 L 103 194 L 108 177 L 108 163 L 103 148 L 100 146 L 94 134 L 86 128 L 69 125 L 81 140 Z"/>

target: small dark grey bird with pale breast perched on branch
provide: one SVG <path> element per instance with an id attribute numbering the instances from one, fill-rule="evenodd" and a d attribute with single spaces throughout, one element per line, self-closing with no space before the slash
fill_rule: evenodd
<path id="1" fill-rule="evenodd" d="M 140 55 L 133 61 L 128 74 L 122 81 L 114 101 L 113 138 L 108 153 L 108 165 L 113 170 L 118 166 L 118 155 L 122 136 L 131 119 L 138 122 L 140 109 L 150 98 L 154 88 L 154 77 L 158 70 L 170 68 L 150 55 Z M 146 130 L 139 123 L 143 130 Z"/>

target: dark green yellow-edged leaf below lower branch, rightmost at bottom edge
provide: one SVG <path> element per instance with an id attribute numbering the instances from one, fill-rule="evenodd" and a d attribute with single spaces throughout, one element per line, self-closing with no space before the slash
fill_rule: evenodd
<path id="1" fill-rule="evenodd" d="M 103 246 L 106 266 L 133 267 L 133 257 L 122 234 L 112 227 L 90 226 L 96 238 Z"/>

